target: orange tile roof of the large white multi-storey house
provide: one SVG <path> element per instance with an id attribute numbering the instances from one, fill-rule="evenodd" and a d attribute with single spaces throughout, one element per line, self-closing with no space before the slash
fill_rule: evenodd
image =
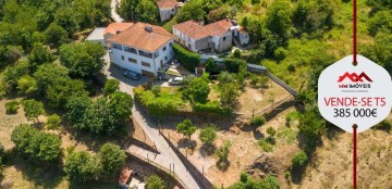
<path id="1" fill-rule="evenodd" d="M 152 30 L 147 32 L 145 29 L 146 26 L 151 27 Z M 171 39 L 173 39 L 173 35 L 163 27 L 136 23 L 122 33 L 109 38 L 109 41 L 155 52 Z"/>

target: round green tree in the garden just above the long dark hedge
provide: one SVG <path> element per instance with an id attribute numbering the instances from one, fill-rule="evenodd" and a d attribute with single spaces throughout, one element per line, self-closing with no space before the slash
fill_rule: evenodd
<path id="1" fill-rule="evenodd" d="M 195 78 L 189 83 L 189 86 L 183 89 L 183 96 L 192 102 L 206 103 L 210 88 L 208 83 L 203 78 Z"/>

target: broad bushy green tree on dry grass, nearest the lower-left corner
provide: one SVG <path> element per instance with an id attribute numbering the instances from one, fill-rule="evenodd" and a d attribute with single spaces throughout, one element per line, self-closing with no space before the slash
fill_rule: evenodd
<path id="1" fill-rule="evenodd" d="M 38 163 L 59 161 L 61 139 L 53 134 L 45 134 L 29 125 L 19 125 L 12 130 L 12 142 L 23 155 Z"/>

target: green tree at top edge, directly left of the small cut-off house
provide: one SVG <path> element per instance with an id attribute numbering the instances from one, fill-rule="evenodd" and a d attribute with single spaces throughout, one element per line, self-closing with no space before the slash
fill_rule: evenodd
<path id="1" fill-rule="evenodd" d="M 142 0 L 135 9 L 137 21 L 158 23 L 158 8 L 151 0 Z"/>

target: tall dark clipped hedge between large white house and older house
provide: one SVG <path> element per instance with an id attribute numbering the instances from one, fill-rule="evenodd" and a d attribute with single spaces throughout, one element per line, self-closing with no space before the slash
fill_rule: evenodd
<path id="1" fill-rule="evenodd" d="M 173 51 L 179 62 L 192 73 L 200 63 L 200 55 L 198 53 L 191 52 L 182 48 L 180 45 L 174 43 Z"/>

